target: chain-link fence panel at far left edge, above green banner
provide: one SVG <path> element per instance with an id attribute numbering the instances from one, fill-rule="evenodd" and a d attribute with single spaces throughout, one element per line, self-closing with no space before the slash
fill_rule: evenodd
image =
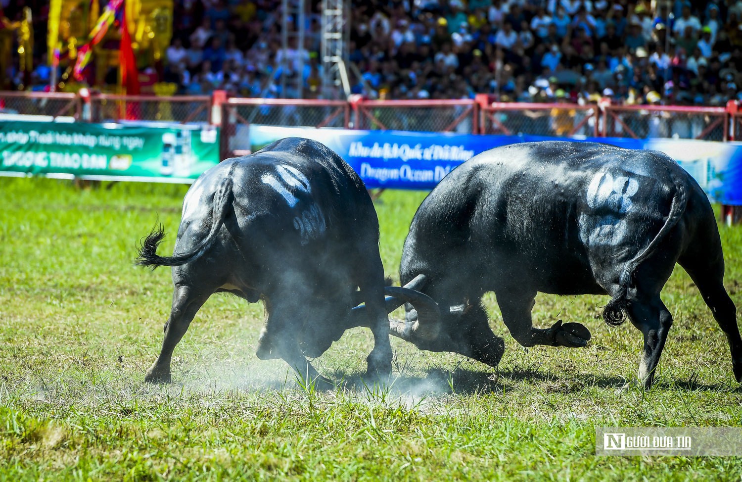
<path id="1" fill-rule="evenodd" d="M 1 114 L 44 115 L 79 119 L 81 101 L 76 94 L 45 92 L 0 92 Z"/>

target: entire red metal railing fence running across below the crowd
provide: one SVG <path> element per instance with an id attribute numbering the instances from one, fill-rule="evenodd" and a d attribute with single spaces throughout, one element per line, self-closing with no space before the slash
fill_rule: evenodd
<path id="1" fill-rule="evenodd" d="M 398 129 L 462 134 L 556 137 L 671 137 L 739 140 L 742 111 L 672 105 L 574 105 L 474 100 L 289 100 L 211 96 L 122 96 L 0 92 L 0 113 L 69 116 L 88 122 L 151 120 L 213 123 L 225 154 L 249 149 L 251 124 L 315 128 Z"/>

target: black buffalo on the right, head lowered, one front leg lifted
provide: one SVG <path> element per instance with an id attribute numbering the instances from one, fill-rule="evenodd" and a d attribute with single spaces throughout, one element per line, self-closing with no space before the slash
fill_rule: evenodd
<path id="1" fill-rule="evenodd" d="M 400 280 L 441 305 L 439 323 L 407 305 L 393 334 L 430 351 L 453 351 L 495 367 L 503 342 L 487 324 L 493 291 L 521 345 L 581 347 L 590 332 L 561 320 L 533 328 L 537 292 L 607 294 L 608 325 L 628 319 L 644 335 L 639 378 L 651 386 L 672 315 L 660 299 L 675 263 L 711 308 L 742 382 L 736 308 L 712 206 L 666 154 L 598 143 L 505 146 L 454 169 L 419 207 L 404 243 Z"/>

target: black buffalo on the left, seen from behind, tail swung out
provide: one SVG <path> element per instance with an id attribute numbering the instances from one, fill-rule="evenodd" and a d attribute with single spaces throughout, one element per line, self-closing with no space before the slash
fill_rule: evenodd
<path id="1" fill-rule="evenodd" d="M 137 260 L 171 266 L 175 285 L 165 340 L 148 382 L 169 382 L 175 345 L 212 293 L 262 299 L 266 322 L 257 356 L 282 358 L 301 377 L 319 377 L 305 356 L 324 353 L 347 328 L 370 327 L 372 375 L 389 374 L 392 350 L 387 312 L 401 302 L 437 316 L 420 293 L 384 287 L 378 218 L 358 175 L 312 140 L 287 138 L 206 171 L 183 201 L 174 255 L 157 255 L 164 234 L 154 229 Z M 365 307 L 352 310 L 365 302 Z"/>

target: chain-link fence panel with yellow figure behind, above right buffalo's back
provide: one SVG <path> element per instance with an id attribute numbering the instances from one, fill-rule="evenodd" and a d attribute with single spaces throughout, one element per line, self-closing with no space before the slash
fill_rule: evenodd
<path id="1" fill-rule="evenodd" d="M 482 108 L 482 134 L 597 136 L 597 105 L 493 102 Z"/>

